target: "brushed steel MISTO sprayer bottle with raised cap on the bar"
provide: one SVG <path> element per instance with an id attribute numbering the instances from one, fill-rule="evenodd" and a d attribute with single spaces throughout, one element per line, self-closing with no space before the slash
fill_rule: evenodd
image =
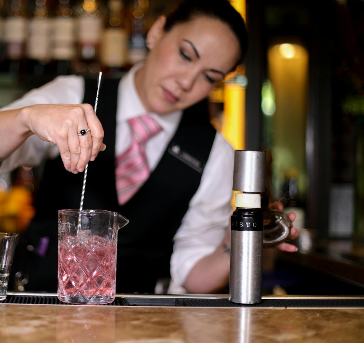
<path id="1" fill-rule="evenodd" d="M 234 303 L 262 300 L 265 151 L 235 150 L 233 190 L 236 210 L 231 217 L 230 296 Z"/>

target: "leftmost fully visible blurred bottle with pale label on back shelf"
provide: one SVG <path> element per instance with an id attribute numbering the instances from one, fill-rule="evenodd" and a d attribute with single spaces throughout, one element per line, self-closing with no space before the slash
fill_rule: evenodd
<path id="1" fill-rule="evenodd" d="M 25 0 L 11 0 L 8 3 L 4 21 L 5 68 L 19 74 L 25 67 L 25 40 L 28 21 Z"/>

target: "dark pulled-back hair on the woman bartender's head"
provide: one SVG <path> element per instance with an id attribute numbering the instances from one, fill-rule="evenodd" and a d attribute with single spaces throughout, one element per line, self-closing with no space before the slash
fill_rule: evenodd
<path id="1" fill-rule="evenodd" d="M 186 23 L 196 16 L 207 16 L 227 24 L 238 39 L 242 63 L 248 48 L 248 33 L 244 19 L 228 0 L 184 0 L 166 17 L 164 30 L 167 32 L 176 24 Z"/>

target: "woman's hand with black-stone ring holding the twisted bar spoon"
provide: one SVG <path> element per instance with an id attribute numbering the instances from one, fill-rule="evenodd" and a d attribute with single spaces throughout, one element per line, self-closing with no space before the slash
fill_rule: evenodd
<path id="1" fill-rule="evenodd" d="M 64 167 L 72 173 L 82 172 L 106 148 L 104 130 L 89 104 L 32 105 L 21 113 L 32 133 L 58 147 Z M 82 129 L 90 131 L 78 135 Z"/>

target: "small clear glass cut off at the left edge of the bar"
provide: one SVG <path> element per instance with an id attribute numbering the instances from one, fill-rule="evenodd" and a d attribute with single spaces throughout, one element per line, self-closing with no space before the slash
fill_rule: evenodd
<path id="1" fill-rule="evenodd" d="M 0 232 L 0 300 L 5 300 L 16 246 L 16 233 Z"/>

